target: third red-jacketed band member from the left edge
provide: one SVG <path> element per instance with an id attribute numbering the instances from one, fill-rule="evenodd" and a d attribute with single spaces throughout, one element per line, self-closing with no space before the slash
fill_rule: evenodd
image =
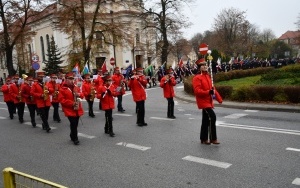
<path id="1" fill-rule="evenodd" d="M 31 125 L 33 127 L 36 127 L 36 122 L 35 122 L 35 111 L 37 108 L 36 101 L 34 100 L 33 96 L 30 93 L 31 87 L 33 85 L 33 78 L 31 76 L 29 76 L 25 80 L 26 81 L 24 82 L 22 96 L 24 97 L 25 103 L 27 104 L 27 107 L 29 110 Z"/>

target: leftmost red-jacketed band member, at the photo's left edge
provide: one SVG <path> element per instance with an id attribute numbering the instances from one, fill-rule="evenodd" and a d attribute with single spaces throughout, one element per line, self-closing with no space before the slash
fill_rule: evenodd
<path id="1" fill-rule="evenodd" d="M 12 96 L 10 95 L 10 92 L 9 92 L 11 84 L 12 84 L 11 78 L 7 77 L 6 83 L 1 87 L 1 90 L 3 92 L 4 102 L 6 103 L 7 108 L 8 108 L 9 117 L 10 117 L 10 119 L 13 119 L 15 104 L 14 104 Z"/>

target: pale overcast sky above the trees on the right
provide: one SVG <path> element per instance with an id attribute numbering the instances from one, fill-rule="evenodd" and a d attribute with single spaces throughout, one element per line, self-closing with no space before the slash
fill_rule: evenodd
<path id="1" fill-rule="evenodd" d="M 235 8 L 246 11 L 246 19 L 260 31 L 271 29 L 276 37 L 286 31 L 296 31 L 295 22 L 300 15 L 300 0 L 195 0 L 184 9 L 193 25 L 184 29 L 184 37 L 191 39 L 196 33 L 212 29 L 221 10 Z"/>

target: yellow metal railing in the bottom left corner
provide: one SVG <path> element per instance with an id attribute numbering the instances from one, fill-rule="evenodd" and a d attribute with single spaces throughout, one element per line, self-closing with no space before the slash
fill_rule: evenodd
<path id="1" fill-rule="evenodd" d="M 3 170 L 3 180 L 4 188 L 67 188 L 10 167 Z"/>

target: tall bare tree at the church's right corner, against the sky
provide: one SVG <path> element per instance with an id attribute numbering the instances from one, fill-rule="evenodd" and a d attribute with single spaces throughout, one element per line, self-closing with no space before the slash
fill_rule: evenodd
<path id="1" fill-rule="evenodd" d="M 170 52 L 170 35 L 178 34 L 181 27 L 187 27 L 189 23 L 184 15 L 181 14 L 181 7 L 184 3 L 190 3 L 193 0 L 148 0 L 144 8 L 144 14 L 152 17 L 151 23 L 147 23 L 145 28 L 153 27 L 158 31 L 157 48 L 161 48 L 159 55 L 161 64 L 168 61 Z M 143 4 L 142 4 L 143 5 Z M 153 22 L 155 24 L 153 24 Z M 165 64 L 167 65 L 167 63 Z"/>

